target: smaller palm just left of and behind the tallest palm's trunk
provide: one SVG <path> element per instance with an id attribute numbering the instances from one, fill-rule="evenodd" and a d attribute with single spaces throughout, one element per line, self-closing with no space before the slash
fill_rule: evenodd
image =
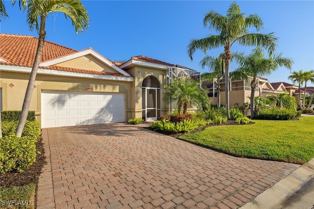
<path id="1" fill-rule="evenodd" d="M 222 60 L 223 54 L 220 54 L 218 57 L 205 56 L 200 64 L 204 69 L 205 66 L 208 66 L 210 73 L 204 73 L 201 75 L 201 80 L 217 80 L 217 106 L 220 107 L 220 80 L 224 77 L 224 62 Z M 215 86 L 215 82 L 213 82 Z"/>

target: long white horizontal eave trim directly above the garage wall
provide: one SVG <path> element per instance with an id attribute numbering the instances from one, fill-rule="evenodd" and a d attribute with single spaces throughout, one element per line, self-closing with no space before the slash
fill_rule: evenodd
<path id="1" fill-rule="evenodd" d="M 12 65 L 0 65 L 1 71 L 17 72 L 17 73 L 30 73 L 30 67 L 12 66 Z M 96 75 L 96 74 L 86 74 L 86 73 L 75 73 L 59 70 L 41 69 L 38 68 L 37 74 L 42 75 L 52 75 L 52 76 L 66 76 L 66 77 L 76 77 L 76 78 L 95 78 L 104 80 L 121 80 L 121 81 L 134 81 L 134 78 L 129 77 L 119 77 L 119 76 L 106 76 L 106 75 Z"/>

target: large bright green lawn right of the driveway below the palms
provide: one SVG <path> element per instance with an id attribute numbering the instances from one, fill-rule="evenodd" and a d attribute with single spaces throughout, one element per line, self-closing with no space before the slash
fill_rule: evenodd
<path id="1" fill-rule="evenodd" d="M 314 157 L 314 117 L 252 122 L 255 124 L 213 126 L 179 138 L 238 157 L 299 164 Z"/>

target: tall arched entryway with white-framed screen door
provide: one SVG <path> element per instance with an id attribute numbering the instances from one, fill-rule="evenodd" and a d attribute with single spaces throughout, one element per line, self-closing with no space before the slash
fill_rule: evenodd
<path id="1" fill-rule="evenodd" d="M 160 85 L 157 78 L 148 76 L 142 84 L 142 119 L 157 120 L 160 117 Z"/>

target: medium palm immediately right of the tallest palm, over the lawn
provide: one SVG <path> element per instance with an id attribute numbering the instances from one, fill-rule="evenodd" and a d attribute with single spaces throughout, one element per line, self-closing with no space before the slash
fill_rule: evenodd
<path id="1" fill-rule="evenodd" d="M 293 61 L 290 58 L 282 57 L 282 53 L 264 57 L 264 52 L 261 47 L 252 50 L 249 55 L 238 54 L 235 57 L 236 62 L 240 67 L 235 69 L 235 72 L 242 72 L 251 80 L 251 117 L 254 118 L 254 97 L 255 88 L 258 87 L 257 76 L 270 75 L 272 71 L 279 67 L 292 68 Z"/>

